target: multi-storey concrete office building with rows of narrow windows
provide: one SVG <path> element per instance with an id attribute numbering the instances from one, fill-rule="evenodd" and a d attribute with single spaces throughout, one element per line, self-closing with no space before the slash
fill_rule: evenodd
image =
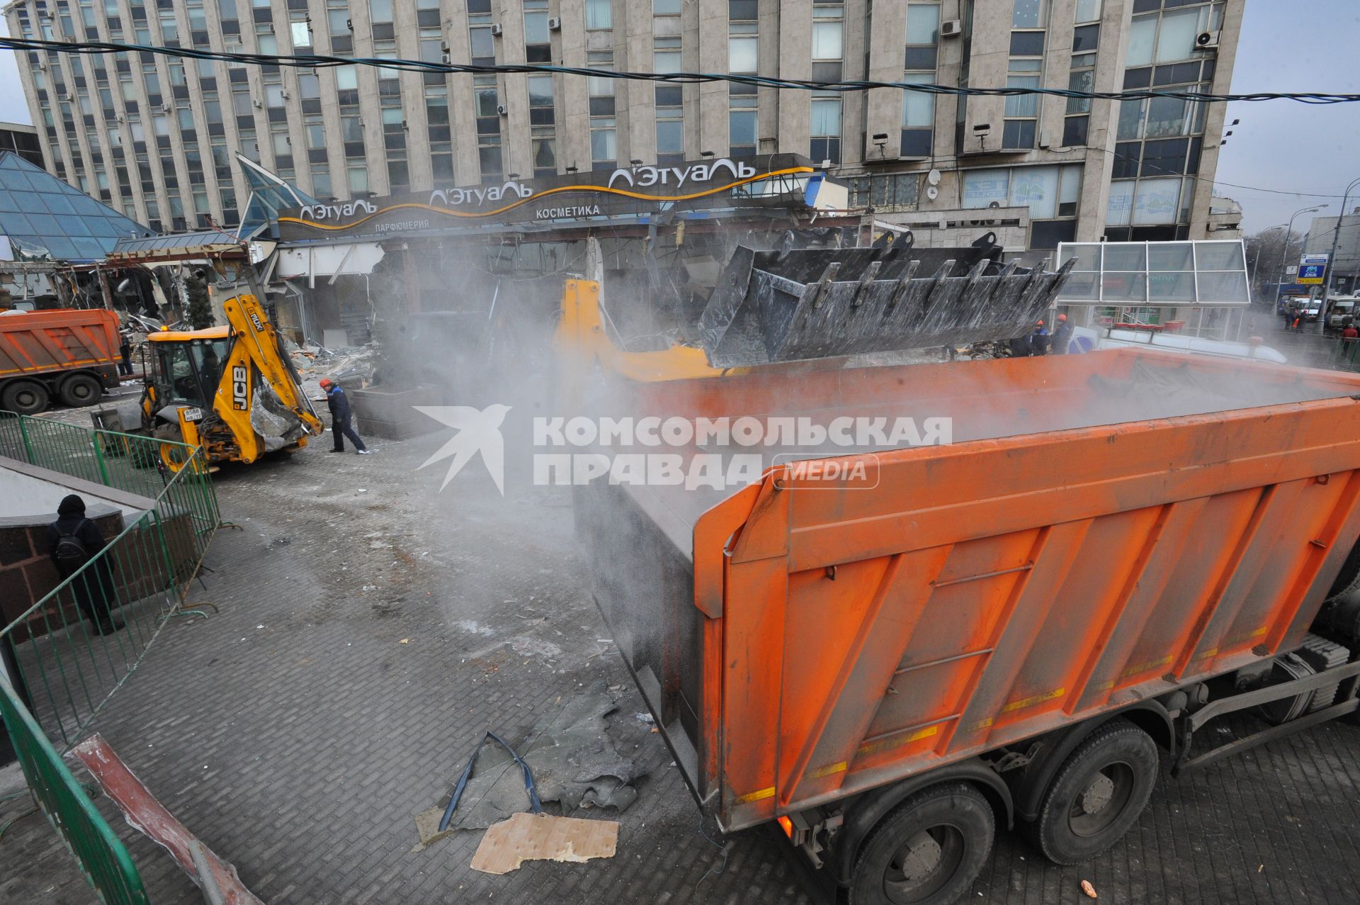
<path id="1" fill-rule="evenodd" d="M 1244 0 L 19 0 L 23 37 L 963 87 L 1225 93 Z M 234 223 L 241 150 L 320 199 L 797 152 L 938 241 L 1204 238 L 1221 105 L 29 53 L 46 166 L 165 230 Z M 981 214 L 979 210 L 986 210 Z"/>

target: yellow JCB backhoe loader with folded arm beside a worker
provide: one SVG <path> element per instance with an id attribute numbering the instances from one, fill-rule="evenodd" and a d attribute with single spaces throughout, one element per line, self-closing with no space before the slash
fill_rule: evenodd
<path id="1" fill-rule="evenodd" d="M 325 427 L 258 299 L 237 295 L 223 310 L 226 327 L 147 336 L 143 431 L 200 445 L 209 464 L 306 446 Z M 185 464 L 170 444 L 160 457 L 173 471 Z"/>

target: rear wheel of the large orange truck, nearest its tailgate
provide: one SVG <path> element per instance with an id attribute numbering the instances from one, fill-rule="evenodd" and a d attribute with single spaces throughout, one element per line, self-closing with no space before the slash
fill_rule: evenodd
<path id="1" fill-rule="evenodd" d="M 970 783 L 922 789 L 865 838 L 850 879 L 850 904 L 947 905 L 982 872 L 996 832 L 991 806 Z"/>

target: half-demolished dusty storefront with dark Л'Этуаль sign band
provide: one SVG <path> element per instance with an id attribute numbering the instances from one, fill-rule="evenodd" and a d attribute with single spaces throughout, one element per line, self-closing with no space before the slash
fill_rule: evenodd
<path id="1" fill-rule="evenodd" d="M 568 276 L 600 279 L 620 329 L 645 335 L 711 289 L 738 244 L 777 248 L 790 231 L 857 244 L 846 205 L 845 186 L 792 154 L 510 174 L 282 211 L 272 276 L 296 302 L 282 325 L 314 342 L 358 344 L 396 314 L 479 336 L 498 321 L 551 325 Z"/>

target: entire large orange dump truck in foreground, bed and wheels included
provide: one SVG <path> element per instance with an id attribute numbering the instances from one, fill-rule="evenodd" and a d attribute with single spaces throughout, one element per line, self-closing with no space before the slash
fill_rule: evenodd
<path id="1" fill-rule="evenodd" d="M 853 902 L 952 901 L 998 823 L 1085 860 L 1159 759 L 1356 709 L 1360 377 L 1121 350 L 628 393 L 710 425 L 952 419 L 914 448 L 767 429 L 736 490 L 577 487 L 596 599 L 700 807 L 778 821 Z M 1202 750 L 1247 709 L 1258 732 Z"/>

